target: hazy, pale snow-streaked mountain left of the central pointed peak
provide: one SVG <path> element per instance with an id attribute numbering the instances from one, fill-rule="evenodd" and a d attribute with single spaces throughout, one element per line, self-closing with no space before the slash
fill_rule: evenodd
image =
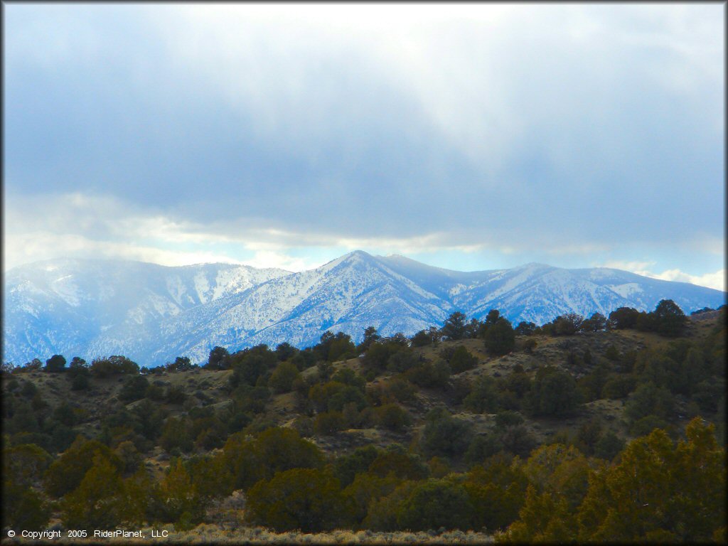
<path id="1" fill-rule="evenodd" d="M 3 360 L 124 354 L 114 349 L 148 325 L 287 274 L 234 264 L 79 259 L 16 267 L 4 278 Z"/>

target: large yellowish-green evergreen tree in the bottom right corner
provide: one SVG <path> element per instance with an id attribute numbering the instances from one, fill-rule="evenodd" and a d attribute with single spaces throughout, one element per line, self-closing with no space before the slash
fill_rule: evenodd
<path id="1" fill-rule="evenodd" d="M 579 539 L 706 542 L 725 525 L 725 451 L 695 418 L 675 446 L 663 430 L 633 440 L 619 464 L 593 472 Z"/>

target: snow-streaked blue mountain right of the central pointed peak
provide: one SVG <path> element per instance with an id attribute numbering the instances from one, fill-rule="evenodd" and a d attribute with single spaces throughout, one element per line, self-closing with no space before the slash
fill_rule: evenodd
<path id="1" fill-rule="evenodd" d="M 704 306 L 720 306 L 726 298 L 720 290 L 642 277 L 620 269 L 526 264 L 462 273 L 426 266 L 403 256 L 381 259 L 457 309 L 467 309 L 469 317 L 483 319 L 490 309 L 499 309 L 514 325 L 521 320 L 541 325 L 571 312 L 585 317 L 595 312 L 606 316 L 622 306 L 651 311 L 661 299 L 672 299 L 689 313 Z"/>

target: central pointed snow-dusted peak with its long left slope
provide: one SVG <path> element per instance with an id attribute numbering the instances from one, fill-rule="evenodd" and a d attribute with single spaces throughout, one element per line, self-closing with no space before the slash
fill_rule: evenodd
<path id="1" fill-rule="evenodd" d="M 233 350 L 288 341 L 304 347 L 327 330 L 359 337 L 371 324 L 387 336 L 442 323 L 449 309 L 447 302 L 357 251 L 164 320 L 163 343 L 150 347 L 150 354 L 161 358 L 176 351 L 204 360 L 215 345 Z"/>

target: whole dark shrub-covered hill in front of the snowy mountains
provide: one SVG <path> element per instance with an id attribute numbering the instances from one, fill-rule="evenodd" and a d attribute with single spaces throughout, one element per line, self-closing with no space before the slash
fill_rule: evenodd
<path id="1" fill-rule="evenodd" d="M 724 541 L 725 334 L 663 301 L 6 367 L 3 528 Z"/>

